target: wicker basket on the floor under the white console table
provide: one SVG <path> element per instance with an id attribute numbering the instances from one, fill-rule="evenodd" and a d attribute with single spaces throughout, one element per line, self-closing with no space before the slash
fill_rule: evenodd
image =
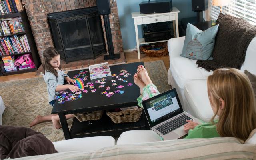
<path id="1" fill-rule="evenodd" d="M 156 43 L 155 44 L 155 48 L 157 47 L 164 47 L 161 50 L 148 50 L 147 48 L 141 46 L 140 50 L 142 50 L 142 52 L 146 53 L 149 57 L 158 57 L 158 56 L 165 56 L 167 55 L 168 52 L 168 48 L 167 48 L 167 42 L 161 42 L 161 43 Z"/>

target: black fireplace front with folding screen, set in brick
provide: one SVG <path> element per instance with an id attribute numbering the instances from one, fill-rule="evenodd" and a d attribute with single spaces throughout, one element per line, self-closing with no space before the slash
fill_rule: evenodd
<path id="1" fill-rule="evenodd" d="M 97 7 L 51 13 L 48 21 L 54 46 L 66 63 L 106 53 Z"/>

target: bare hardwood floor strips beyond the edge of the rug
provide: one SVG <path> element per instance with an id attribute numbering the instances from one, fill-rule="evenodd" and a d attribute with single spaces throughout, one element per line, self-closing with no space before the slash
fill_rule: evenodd
<path id="1" fill-rule="evenodd" d="M 166 69 L 169 69 L 169 55 L 162 56 L 162 57 L 148 57 L 146 54 L 140 54 L 140 60 L 138 60 L 138 54 L 136 51 L 133 52 L 126 52 L 125 53 L 126 62 L 127 63 L 133 63 L 133 62 L 150 62 L 155 60 L 163 60 L 164 65 Z M 23 73 L 23 74 L 15 74 L 10 76 L 1 76 L 0 82 L 6 82 L 11 80 L 22 80 L 27 78 L 34 78 L 36 76 L 36 72 L 30 72 L 30 73 Z"/>

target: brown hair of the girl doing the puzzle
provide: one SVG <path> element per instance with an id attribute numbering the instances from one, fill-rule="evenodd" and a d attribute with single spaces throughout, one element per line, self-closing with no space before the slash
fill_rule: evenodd
<path id="1" fill-rule="evenodd" d="M 45 73 L 45 71 L 52 72 L 56 77 L 58 77 L 57 70 L 55 70 L 50 64 L 50 60 L 52 60 L 53 57 L 56 57 L 58 55 L 60 55 L 60 54 L 53 47 L 49 47 L 46 50 L 44 50 L 44 53 L 43 53 L 43 56 L 44 56 L 43 69 L 44 69 L 44 71 L 43 71 L 43 73 Z M 61 70 L 60 66 L 58 68 Z"/>

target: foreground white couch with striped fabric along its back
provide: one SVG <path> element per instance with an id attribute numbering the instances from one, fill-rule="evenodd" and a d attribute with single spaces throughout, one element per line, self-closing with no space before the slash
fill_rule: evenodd
<path id="1" fill-rule="evenodd" d="M 127 131 L 117 144 L 109 136 L 54 142 L 59 153 L 17 160 L 178 160 L 256 159 L 256 129 L 245 142 L 236 138 L 196 138 L 160 141 L 152 130 Z"/>

